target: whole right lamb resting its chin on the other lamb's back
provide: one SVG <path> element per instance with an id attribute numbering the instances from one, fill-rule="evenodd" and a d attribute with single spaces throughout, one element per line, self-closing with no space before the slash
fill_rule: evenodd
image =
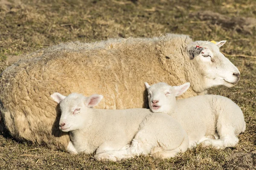
<path id="1" fill-rule="evenodd" d="M 238 135 L 245 130 L 244 115 L 236 103 L 224 96 L 203 95 L 187 99 L 175 97 L 190 86 L 170 86 L 160 82 L 148 85 L 149 107 L 154 113 L 167 113 L 176 119 L 189 136 L 189 147 L 196 143 L 217 149 L 235 147 Z"/>

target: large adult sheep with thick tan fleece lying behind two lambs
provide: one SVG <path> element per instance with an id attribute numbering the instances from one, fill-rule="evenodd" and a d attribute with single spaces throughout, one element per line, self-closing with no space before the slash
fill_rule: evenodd
<path id="1" fill-rule="evenodd" d="M 60 112 L 50 94 L 102 94 L 98 108 L 125 109 L 148 107 L 144 82 L 190 82 L 181 98 L 216 85 L 233 87 L 240 73 L 219 51 L 225 42 L 166 34 L 67 42 L 37 51 L 0 75 L 1 119 L 15 139 L 66 150 L 70 139 L 58 128 Z"/>

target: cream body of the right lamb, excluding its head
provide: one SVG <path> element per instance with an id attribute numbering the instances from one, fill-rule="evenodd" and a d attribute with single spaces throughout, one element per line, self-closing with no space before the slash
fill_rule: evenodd
<path id="1" fill-rule="evenodd" d="M 214 136 L 215 139 L 223 139 L 227 136 L 237 136 L 244 132 L 244 115 L 236 103 L 224 96 L 204 95 L 188 99 L 177 100 L 177 108 L 169 115 L 176 117 L 182 127 L 189 135 L 189 145 L 194 146 L 195 142 L 209 144 L 217 140 L 207 139 Z M 220 140 L 218 140 L 220 142 Z M 233 138 L 233 143 L 223 142 L 217 148 L 234 147 L 238 142 Z"/>

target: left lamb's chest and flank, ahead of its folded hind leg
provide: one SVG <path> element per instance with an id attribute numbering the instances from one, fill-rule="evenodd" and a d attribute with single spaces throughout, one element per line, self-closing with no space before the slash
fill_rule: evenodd
<path id="1" fill-rule="evenodd" d="M 78 153 L 93 153 L 106 141 L 117 147 L 116 150 L 121 149 L 130 144 L 140 123 L 151 113 L 149 109 L 92 109 L 92 112 L 90 126 L 70 131 L 71 141 Z"/>

